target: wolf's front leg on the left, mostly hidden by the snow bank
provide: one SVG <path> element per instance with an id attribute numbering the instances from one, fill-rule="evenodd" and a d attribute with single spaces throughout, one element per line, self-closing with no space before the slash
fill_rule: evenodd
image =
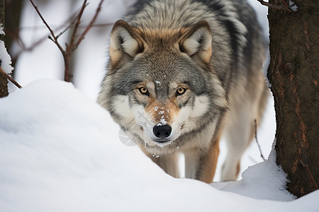
<path id="1" fill-rule="evenodd" d="M 150 158 L 157 163 L 167 174 L 179 178 L 179 153 L 159 155 L 158 158 L 150 156 Z"/>

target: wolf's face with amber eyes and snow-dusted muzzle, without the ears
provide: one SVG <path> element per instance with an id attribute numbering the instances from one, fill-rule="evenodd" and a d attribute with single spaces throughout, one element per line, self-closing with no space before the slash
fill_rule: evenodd
<path id="1" fill-rule="evenodd" d="M 113 101 L 113 108 L 131 123 L 125 130 L 143 141 L 159 146 L 174 141 L 194 129 L 196 119 L 207 112 L 206 76 L 187 57 L 177 52 L 144 53 L 125 68 L 117 74 L 128 78 L 113 84 L 123 94 Z"/>

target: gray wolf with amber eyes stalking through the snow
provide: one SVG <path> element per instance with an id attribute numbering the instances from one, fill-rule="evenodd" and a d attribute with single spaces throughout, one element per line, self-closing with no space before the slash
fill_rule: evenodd
<path id="1" fill-rule="evenodd" d="M 138 0 L 111 31 L 97 102 L 157 165 L 212 182 L 225 135 L 222 180 L 240 158 L 267 101 L 265 45 L 252 8 L 233 0 Z"/>

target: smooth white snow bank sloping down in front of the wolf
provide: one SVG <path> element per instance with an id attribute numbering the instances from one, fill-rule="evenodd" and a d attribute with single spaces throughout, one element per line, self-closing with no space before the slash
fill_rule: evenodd
<path id="1" fill-rule="evenodd" d="M 259 189 L 278 192 L 265 184 Z M 259 200 L 174 179 L 138 148 L 124 146 L 118 126 L 99 105 L 72 84 L 52 80 L 0 99 L 0 191 L 4 212 L 301 211 L 305 206 L 318 211 L 319 198 L 314 192 L 290 202 Z"/>

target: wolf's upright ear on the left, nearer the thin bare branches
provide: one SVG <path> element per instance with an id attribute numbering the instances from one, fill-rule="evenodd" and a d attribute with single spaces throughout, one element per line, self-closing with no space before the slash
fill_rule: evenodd
<path id="1" fill-rule="evenodd" d="M 111 64 L 132 59 L 143 51 L 142 38 L 125 20 L 118 20 L 113 25 L 110 41 Z"/>

